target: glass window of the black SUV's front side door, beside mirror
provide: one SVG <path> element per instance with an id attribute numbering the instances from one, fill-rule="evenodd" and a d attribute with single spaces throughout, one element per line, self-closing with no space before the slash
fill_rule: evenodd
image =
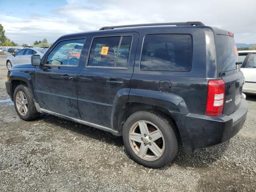
<path id="1" fill-rule="evenodd" d="M 62 41 L 50 52 L 46 64 L 78 66 L 85 39 Z"/>

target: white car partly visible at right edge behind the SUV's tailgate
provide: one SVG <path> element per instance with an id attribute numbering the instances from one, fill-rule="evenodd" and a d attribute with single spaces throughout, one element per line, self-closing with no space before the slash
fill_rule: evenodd
<path id="1" fill-rule="evenodd" d="M 245 78 L 243 92 L 256 94 L 256 51 L 238 51 L 238 55 Z"/>

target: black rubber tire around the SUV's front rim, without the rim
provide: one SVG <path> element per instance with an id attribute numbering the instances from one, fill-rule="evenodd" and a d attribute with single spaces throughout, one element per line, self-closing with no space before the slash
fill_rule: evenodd
<path id="1" fill-rule="evenodd" d="M 19 91 L 22 91 L 25 94 L 27 102 L 28 102 L 28 104 L 27 104 L 28 105 L 28 107 L 27 107 L 28 111 L 27 111 L 26 115 L 20 114 L 19 110 L 17 109 L 16 95 L 17 95 L 17 93 Z M 30 120 L 33 120 L 33 119 L 38 117 L 39 113 L 36 110 L 36 106 L 35 106 L 34 101 L 32 99 L 32 95 L 31 95 L 31 93 L 30 93 L 30 91 L 29 91 L 27 86 L 25 86 L 25 85 L 18 85 L 16 87 L 16 89 L 14 90 L 13 101 L 14 101 L 15 110 L 16 110 L 18 116 L 22 120 L 30 121 Z"/>

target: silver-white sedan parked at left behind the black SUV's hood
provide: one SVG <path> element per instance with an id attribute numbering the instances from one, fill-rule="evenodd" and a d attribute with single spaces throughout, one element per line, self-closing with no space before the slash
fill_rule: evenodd
<path id="1" fill-rule="evenodd" d="M 44 56 L 48 48 L 24 48 L 19 50 L 15 54 L 8 56 L 6 58 L 6 67 L 10 69 L 13 65 L 16 64 L 28 64 L 31 63 L 32 55 L 40 55 L 41 58 Z"/>

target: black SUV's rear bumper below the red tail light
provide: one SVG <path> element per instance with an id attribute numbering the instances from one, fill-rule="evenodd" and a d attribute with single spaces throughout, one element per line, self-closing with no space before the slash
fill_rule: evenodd
<path id="1" fill-rule="evenodd" d="M 239 108 L 229 116 L 174 114 L 185 152 L 194 153 L 232 138 L 241 130 L 247 110 L 247 102 L 242 99 Z"/>

